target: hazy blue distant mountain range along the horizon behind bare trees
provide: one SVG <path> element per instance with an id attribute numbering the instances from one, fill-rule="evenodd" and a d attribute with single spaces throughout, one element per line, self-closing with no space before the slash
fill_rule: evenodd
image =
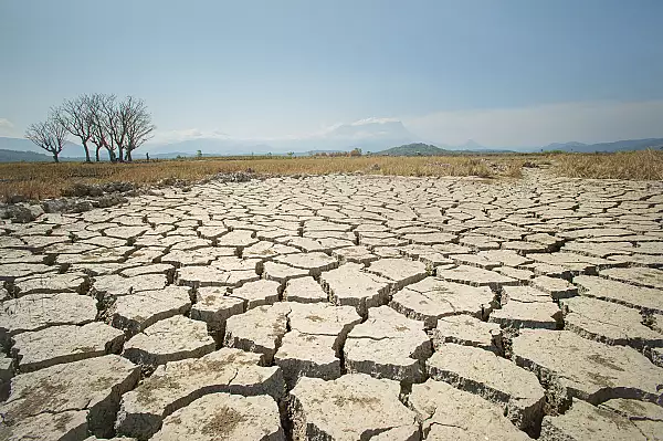
<path id="1" fill-rule="evenodd" d="M 197 138 L 177 143 L 146 144 L 134 155 L 144 158 L 149 153 L 152 158 L 175 158 L 177 156 L 196 156 L 200 150 L 203 156 L 229 155 L 312 155 L 322 151 L 349 151 L 360 148 L 365 154 L 379 155 L 444 155 L 455 153 L 504 153 L 504 151 L 619 151 L 639 150 L 645 148 L 663 148 L 663 138 L 625 139 L 614 143 L 552 143 L 541 147 L 501 147 L 487 148 L 474 140 L 467 140 L 459 146 L 430 143 L 420 139 L 409 132 L 401 122 L 396 119 L 368 118 L 351 124 L 337 125 L 326 132 L 294 139 L 232 139 L 230 137 Z M 39 161 L 52 158 L 45 151 L 24 138 L 0 137 L 0 161 Z M 11 151 L 10 151 L 11 150 Z M 13 151 L 13 153 L 12 153 Z M 33 153 L 35 155 L 28 155 Z M 104 159 L 106 157 L 104 151 Z M 69 141 L 61 155 L 62 160 L 80 160 L 83 158 L 83 147 Z"/>

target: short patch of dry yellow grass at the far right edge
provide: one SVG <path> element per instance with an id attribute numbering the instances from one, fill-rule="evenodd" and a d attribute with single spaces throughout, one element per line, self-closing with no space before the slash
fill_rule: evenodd
<path id="1" fill-rule="evenodd" d="M 661 150 L 556 155 L 554 162 L 558 175 L 570 178 L 663 180 Z"/>

